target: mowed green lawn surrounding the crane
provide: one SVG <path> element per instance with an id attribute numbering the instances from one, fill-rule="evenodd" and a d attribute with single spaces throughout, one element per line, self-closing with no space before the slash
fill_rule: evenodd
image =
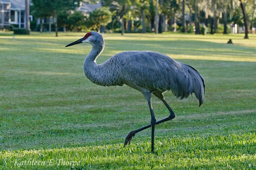
<path id="1" fill-rule="evenodd" d="M 0 33 L 0 169 L 256 169 L 256 35 L 104 34 L 97 63 L 129 50 L 158 51 L 195 67 L 204 104 L 166 92 L 176 118 L 156 125 L 143 95 L 86 79 L 84 33 Z M 226 44 L 232 39 L 234 44 Z M 157 120 L 169 115 L 152 97 Z M 35 163 L 35 161 L 37 161 Z"/>

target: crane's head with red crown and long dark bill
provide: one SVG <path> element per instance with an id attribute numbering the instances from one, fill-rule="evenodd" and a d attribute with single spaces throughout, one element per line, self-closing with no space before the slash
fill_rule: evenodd
<path id="1" fill-rule="evenodd" d="M 83 38 L 66 45 L 66 47 L 69 47 L 71 45 L 76 45 L 79 43 L 90 43 L 92 45 L 100 45 L 100 46 L 102 45 L 104 46 L 105 44 L 103 36 L 98 32 L 92 31 L 85 34 Z"/>

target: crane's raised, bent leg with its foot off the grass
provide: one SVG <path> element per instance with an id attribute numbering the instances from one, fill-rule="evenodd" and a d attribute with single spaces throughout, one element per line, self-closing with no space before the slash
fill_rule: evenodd
<path id="1" fill-rule="evenodd" d="M 170 121 L 170 120 L 174 119 L 175 113 L 172 111 L 172 109 L 170 108 L 170 106 L 168 105 L 168 103 L 165 101 L 164 95 L 163 95 L 162 93 L 153 93 L 153 94 L 154 94 L 156 97 L 158 97 L 158 99 L 160 99 L 160 100 L 164 103 L 164 105 L 167 107 L 167 109 L 170 111 L 170 115 L 169 115 L 168 117 L 164 118 L 164 119 L 161 119 L 160 121 L 157 121 L 157 122 L 156 122 L 156 125 L 158 125 L 159 123 L 163 123 L 163 122 Z M 130 142 L 131 142 L 131 140 L 132 140 L 132 137 L 133 137 L 136 133 L 138 133 L 138 132 L 140 132 L 140 131 L 142 131 L 142 130 L 144 130 L 144 129 L 146 129 L 146 128 L 150 128 L 150 127 L 151 127 L 151 124 L 150 124 L 150 125 L 147 125 L 147 126 L 145 126 L 145 127 L 138 128 L 138 129 L 136 129 L 136 130 L 131 131 L 131 132 L 127 135 L 127 137 L 126 137 L 126 140 L 125 140 L 125 142 L 124 142 L 124 146 L 125 146 L 126 144 L 128 144 L 128 142 L 129 142 L 129 144 L 130 144 Z"/>

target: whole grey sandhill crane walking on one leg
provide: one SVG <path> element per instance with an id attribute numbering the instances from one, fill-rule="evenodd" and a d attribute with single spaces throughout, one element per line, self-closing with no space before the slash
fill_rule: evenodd
<path id="1" fill-rule="evenodd" d="M 199 107 L 204 101 L 204 78 L 190 65 L 154 51 L 124 51 L 110 57 L 102 64 L 97 64 L 96 59 L 105 46 L 102 35 L 94 31 L 88 32 L 83 38 L 66 47 L 79 43 L 92 45 L 92 50 L 84 60 L 84 73 L 90 81 L 102 86 L 126 84 L 140 91 L 148 101 L 150 125 L 131 131 L 126 136 L 124 146 L 130 144 L 137 132 L 152 127 L 151 152 L 154 153 L 155 125 L 175 117 L 175 113 L 164 99 L 164 92 L 171 90 L 173 95 L 180 99 L 194 93 L 199 100 Z M 156 121 L 151 105 L 151 94 L 158 97 L 170 111 L 167 118 Z"/>

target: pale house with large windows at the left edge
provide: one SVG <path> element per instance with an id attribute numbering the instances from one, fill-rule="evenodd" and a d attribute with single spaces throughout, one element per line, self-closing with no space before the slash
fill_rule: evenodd
<path id="1" fill-rule="evenodd" d="M 11 24 L 26 28 L 25 23 L 25 0 L 0 0 L 0 28 Z"/>

